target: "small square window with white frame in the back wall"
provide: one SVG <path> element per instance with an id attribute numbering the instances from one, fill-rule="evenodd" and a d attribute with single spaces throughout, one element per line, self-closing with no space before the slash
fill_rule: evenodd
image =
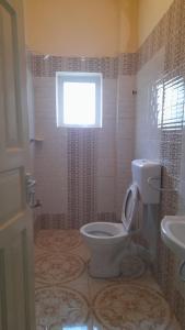
<path id="1" fill-rule="evenodd" d="M 102 74 L 56 74 L 57 127 L 102 127 Z"/>

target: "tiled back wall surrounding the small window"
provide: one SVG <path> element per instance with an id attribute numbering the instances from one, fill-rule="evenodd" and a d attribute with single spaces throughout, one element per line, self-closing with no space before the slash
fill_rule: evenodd
<path id="1" fill-rule="evenodd" d="M 103 74 L 103 128 L 57 128 L 55 75 L 61 70 Z M 119 220 L 131 179 L 136 55 L 81 61 L 32 54 L 32 73 L 41 228 Z"/>

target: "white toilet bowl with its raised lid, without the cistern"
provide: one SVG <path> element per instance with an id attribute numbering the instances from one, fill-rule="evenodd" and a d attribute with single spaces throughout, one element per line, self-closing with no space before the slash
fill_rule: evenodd
<path id="1" fill-rule="evenodd" d="M 138 204 L 138 187 L 132 184 L 126 193 L 122 221 L 92 222 L 84 224 L 80 232 L 86 242 L 91 260 L 89 272 L 93 277 L 115 277 L 122 272 L 122 260 L 130 243 L 130 229 Z"/>

